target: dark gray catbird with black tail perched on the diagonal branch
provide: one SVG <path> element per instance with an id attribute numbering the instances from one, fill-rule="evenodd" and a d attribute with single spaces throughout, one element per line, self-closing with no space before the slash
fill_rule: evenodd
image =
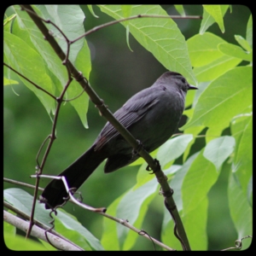
<path id="1" fill-rule="evenodd" d="M 181 119 L 187 90 L 197 89 L 188 84 L 179 73 L 166 72 L 155 83 L 132 96 L 113 115 L 137 138 L 148 152 L 160 147 L 177 129 Z M 139 158 L 131 145 L 109 122 L 103 127 L 95 143 L 59 176 L 65 176 L 69 188 L 79 187 L 108 159 L 104 172 L 113 172 Z M 47 200 L 45 208 L 56 207 L 67 197 L 61 180 L 52 180 L 42 194 Z"/>

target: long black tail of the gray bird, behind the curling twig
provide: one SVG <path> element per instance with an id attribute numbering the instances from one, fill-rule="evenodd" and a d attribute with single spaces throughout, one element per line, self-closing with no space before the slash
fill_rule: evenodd
<path id="1" fill-rule="evenodd" d="M 58 176 L 65 176 L 68 187 L 79 189 L 84 181 L 107 158 L 102 150 L 95 151 L 94 146 L 89 148 L 78 160 Z M 76 190 L 75 189 L 75 190 Z M 67 191 L 61 180 L 53 179 L 44 189 L 42 196 L 47 200 L 45 208 L 56 207 L 61 205 L 67 197 Z"/>

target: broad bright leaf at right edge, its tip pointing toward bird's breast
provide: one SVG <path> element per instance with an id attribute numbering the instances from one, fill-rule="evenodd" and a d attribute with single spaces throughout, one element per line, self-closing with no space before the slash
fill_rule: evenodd
<path id="1" fill-rule="evenodd" d="M 198 99 L 192 119 L 182 129 L 197 125 L 224 129 L 236 114 L 252 103 L 252 67 L 236 67 L 207 86 Z"/>

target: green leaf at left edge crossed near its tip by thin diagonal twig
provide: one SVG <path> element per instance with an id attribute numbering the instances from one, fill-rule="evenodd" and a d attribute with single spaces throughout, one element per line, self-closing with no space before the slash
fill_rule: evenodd
<path id="1" fill-rule="evenodd" d="M 9 32 L 4 32 L 3 49 L 5 60 L 9 66 L 15 68 L 18 72 L 29 78 L 35 84 L 47 90 L 54 95 L 54 88 L 51 79 L 44 68 L 44 60 L 38 53 L 30 48 L 28 44 Z M 55 101 L 52 97 L 45 94 L 44 91 L 38 90 L 34 85 L 20 78 L 27 88 L 32 90 L 43 103 L 47 113 L 55 112 Z"/>

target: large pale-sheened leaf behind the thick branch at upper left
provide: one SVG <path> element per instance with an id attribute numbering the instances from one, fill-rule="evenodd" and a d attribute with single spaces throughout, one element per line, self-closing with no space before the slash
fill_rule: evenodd
<path id="1" fill-rule="evenodd" d="M 38 8 L 37 8 L 38 7 Z M 42 15 L 45 19 L 50 19 L 55 22 L 55 25 L 61 28 L 61 31 L 65 33 L 69 40 L 79 38 L 84 33 L 84 13 L 77 5 L 39 5 L 34 7 L 38 15 Z M 40 9 L 40 10 L 39 10 Z M 42 33 L 38 30 L 38 27 L 27 16 L 25 11 L 20 11 L 18 7 L 15 7 L 17 13 L 20 29 L 19 32 L 15 29 L 21 38 L 26 38 L 27 44 L 32 45 L 34 49 L 38 51 L 38 54 L 44 59 L 44 63 L 47 64 L 49 76 L 53 79 L 54 84 L 61 90 L 61 86 L 64 87 L 67 84 L 67 69 L 61 64 L 61 60 L 55 54 L 55 51 L 50 47 L 49 43 L 44 40 Z M 68 14 L 72 15 L 67 16 Z M 60 44 L 64 53 L 67 53 L 67 42 L 59 31 L 54 26 L 48 25 L 49 30 L 55 35 L 55 40 Z M 89 79 L 91 63 L 90 63 L 90 49 L 84 40 L 84 38 L 71 44 L 69 59 L 73 62 L 73 65 L 79 69 L 85 78 Z M 45 67 L 46 68 L 46 67 Z M 61 86 L 59 86 L 61 84 Z M 83 88 L 76 81 L 73 81 L 69 85 L 67 90 L 67 98 L 72 99 L 79 96 Z M 79 117 L 83 125 L 87 128 L 86 113 L 88 110 L 89 97 L 86 93 L 70 102 L 76 111 L 79 113 Z"/>

